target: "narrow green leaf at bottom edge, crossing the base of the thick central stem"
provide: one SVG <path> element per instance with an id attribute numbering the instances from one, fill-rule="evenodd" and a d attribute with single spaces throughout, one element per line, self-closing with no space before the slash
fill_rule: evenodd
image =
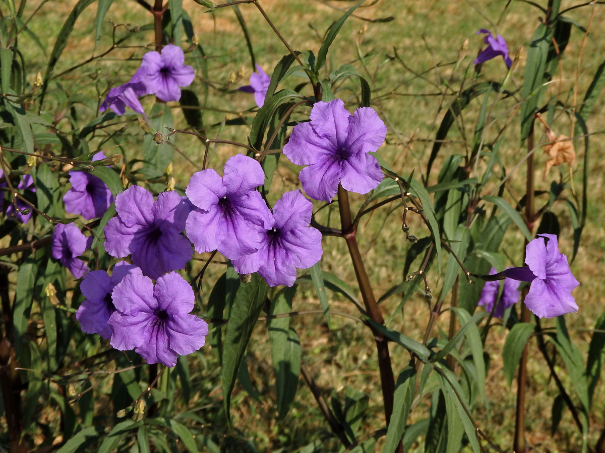
<path id="1" fill-rule="evenodd" d="M 416 390 L 416 368 L 408 366 L 397 377 L 393 395 L 393 414 L 387 429 L 383 453 L 393 453 L 404 434 Z"/>

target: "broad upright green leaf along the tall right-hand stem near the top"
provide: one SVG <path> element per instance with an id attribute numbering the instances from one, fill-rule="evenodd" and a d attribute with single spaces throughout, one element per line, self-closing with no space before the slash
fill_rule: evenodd
<path id="1" fill-rule="evenodd" d="M 538 25 L 534 38 L 529 45 L 523 86 L 521 88 L 521 141 L 529 136 L 529 131 L 534 124 L 534 115 L 538 111 L 538 103 L 541 101 L 541 93 L 545 80 L 546 57 L 548 56 L 551 33 L 549 27 L 544 24 Z"/>

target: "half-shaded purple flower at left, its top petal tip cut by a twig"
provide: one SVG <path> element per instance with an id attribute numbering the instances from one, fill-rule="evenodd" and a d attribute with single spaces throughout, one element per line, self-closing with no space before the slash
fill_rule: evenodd
<path id="1" fill-rule="evenodd" d="M 93 161 L 105 159 L 102 151 L 93 156 Z M 114 201 L 114 196 L 100 178 L 86 172 L 70 172 L 71 188 L 63 196 L 65 211 L 82 214 L 87 220 L 102 217 Z"/>

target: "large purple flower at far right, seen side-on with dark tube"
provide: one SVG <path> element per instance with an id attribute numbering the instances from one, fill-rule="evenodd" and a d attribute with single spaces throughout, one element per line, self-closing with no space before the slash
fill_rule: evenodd
<path id="1" fill-rule="evenodd" d="M 554 318 L 578 311 L 571 295 L 580 282 L 569 269 L 567 257 L 559 252 L 557 236 L 540 234 L 525 248 L 527 268 L 503 272 L 514 280 L 531 281 L 525 304 L 538 318 Z"/>

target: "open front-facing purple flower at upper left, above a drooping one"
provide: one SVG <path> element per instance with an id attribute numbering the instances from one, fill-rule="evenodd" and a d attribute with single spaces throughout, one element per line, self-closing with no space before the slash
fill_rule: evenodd
<path id="1" fill-rule="evenodd" d="M 161 54 L 154 51 L 143 55 L 140 71 L 147 94 L 155 94 L 163 101 L 178 101 L 178 87 L 191 85 L 194 79 L 194 69 L 185 65 L 183 50 L 173 44 L 166 45 Z"/>

